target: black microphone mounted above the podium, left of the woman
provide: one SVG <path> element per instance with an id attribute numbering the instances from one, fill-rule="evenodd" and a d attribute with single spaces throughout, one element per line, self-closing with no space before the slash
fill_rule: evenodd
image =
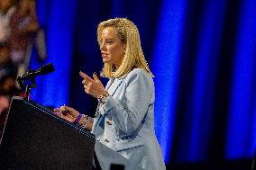
<path id="1" fill-rule="evenodd" d="M 54 67 L 51 63 L 49 63 L 49 64 L 46 64 L 46 65 L 40 67 L 39 69 L 30 70 L 26 74 L 24 74 L 23 76 L 18 76 L 17 80 L 18 81 L 23 81 L 25 79 L 32 79 L 35 76 L 46 75 L 46 74 L 49 74 L 53 71 L 54 71 Z"/>

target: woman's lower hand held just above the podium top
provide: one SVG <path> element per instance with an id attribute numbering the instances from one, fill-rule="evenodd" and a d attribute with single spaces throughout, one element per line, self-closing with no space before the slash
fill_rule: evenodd
<path id="1" fill-rule="evenodd" d="M 53 112 L 55 115 L 71 123 L 73 123 L 80 114 L 77 110 L 66 105 L 54 109 Z"/>

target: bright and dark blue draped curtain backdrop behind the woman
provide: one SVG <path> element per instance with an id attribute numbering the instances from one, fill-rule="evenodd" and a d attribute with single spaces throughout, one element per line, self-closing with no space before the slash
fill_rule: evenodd
<path id="1" fill-rule="evenodd" d="M 155 129 L 165 162 L 251 157 L 256 148 L 255 0 L 37 0 L 48 59 L 32 98 L 94 115 L 78 71 L 99 73 L 98 22 L 137 24 L 156 76 Z M 39 67 L 32 58 L 31 67 Z M 103 80 L 106 82 L 106 80 Z M 171 154 L 170 154 L 171 153 Z"/>

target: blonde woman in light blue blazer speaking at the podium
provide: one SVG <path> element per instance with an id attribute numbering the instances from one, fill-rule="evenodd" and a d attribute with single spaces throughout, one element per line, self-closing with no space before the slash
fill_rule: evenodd
<path id="1" fill-rule="evenodd" d="M 80 72 L 85 92 L 99 101 L 96 117 L 61 106 L 60 117 L 96 135 L 96 140 L 147 170 L 165 169 L 154 131 L 154 84 L 143 57 L 140 35 L 133 22 L 125 18 L 101 22 L 97 28 L 104 68 L 108 77 L 104 87 L 96 74 Z"/>

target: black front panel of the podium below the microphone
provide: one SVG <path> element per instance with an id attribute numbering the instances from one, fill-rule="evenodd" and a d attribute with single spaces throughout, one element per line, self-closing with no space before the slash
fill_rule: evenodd
<path id="1" fill-rule="evenodd" d="M 50 109 L 15 96 L 0 146 L 0 169 L 92 168 L 95 137 Z"/>

